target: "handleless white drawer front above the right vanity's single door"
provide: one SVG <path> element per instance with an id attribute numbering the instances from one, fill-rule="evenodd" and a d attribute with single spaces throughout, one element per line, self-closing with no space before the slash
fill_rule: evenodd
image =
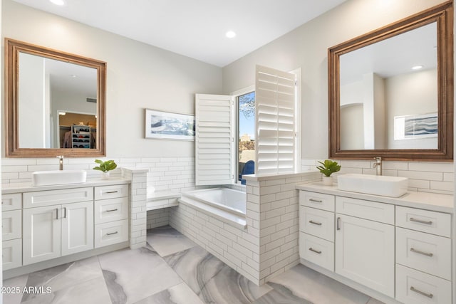
<path id="1" fill-rule="evenodd" d="M 336 212 L 394 225 L 394 205 L 336 196 Z"/>

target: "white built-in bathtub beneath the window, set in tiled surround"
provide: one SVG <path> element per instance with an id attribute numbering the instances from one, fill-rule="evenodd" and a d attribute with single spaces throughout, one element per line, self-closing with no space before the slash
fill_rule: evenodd
<path id="1" fill-rule="evenodd" d="M 204 214 L 245 227 L 246 194 L 229 188 L 212 188 L 182 193 L 180 204 L 192 206 Z"/>

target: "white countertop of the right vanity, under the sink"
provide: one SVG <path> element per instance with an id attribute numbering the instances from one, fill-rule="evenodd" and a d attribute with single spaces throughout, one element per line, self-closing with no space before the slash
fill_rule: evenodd
<path id="1" fill-rule="evenodd" d="M 332 194 L 338 196 L 352 197 L 353 199 L 366 199 L 369 201 L 379 201 L 381 203 L 394 204 L 397 206 L 408 206 L 412 208 L 427 209 L 432 211 L 455 212 L 455 202 L 453 195 L 438 194 L 432 192 L 407 192 L 400 197 L 378 196 L 363 194 L 358 192 L 348 192 L 339 190 L 337 185 L 324 186 L 323 182 L 298 184 L 296 189 L 323 194 Z"/>

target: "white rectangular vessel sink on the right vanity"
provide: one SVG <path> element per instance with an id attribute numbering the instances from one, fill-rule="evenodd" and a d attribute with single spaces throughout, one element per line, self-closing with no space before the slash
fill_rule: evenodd
<path id="1" fill-rule="evenodd" d="M 343 174 L 337 177 L 338 189 L 381 196 L 399 197 L 407 193 L 407 177 Z"/>

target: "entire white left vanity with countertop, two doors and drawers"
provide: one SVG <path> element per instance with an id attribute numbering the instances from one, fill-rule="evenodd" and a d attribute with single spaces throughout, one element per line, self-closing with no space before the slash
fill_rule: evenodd
<path id="1" fill-rule="evenodd" d="M 128 247 L 130 182 L 4 185 L 5 277 Z"/>

